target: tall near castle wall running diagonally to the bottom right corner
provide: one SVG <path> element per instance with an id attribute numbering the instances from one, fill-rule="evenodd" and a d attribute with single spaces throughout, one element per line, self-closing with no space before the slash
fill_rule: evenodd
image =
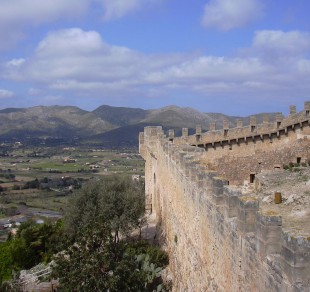
<path id="1" fill-rule="evenodd" d="M 306 112 L 301 116 L 300 139 L 284 142 L 283 136 L 272 151 L 284 153 L 300 142 L 309 155 L 309 118 L 306 123 Z M 146 200 L 170 255 L 174 291 L 309 291 L 310 238 L 283 231 L 281 217 L 264 214 L 258 201 L 210 170 L 205 147 L 173 140 L 161 127 L 140 133 Z M 252 159 L 257 149 L 253 153 Z"/>

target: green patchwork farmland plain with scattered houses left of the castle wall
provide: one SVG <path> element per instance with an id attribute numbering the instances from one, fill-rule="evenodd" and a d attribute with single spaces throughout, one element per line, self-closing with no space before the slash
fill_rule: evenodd
<path id="1" fill-rule="evenodd" d="M 144 175 L 137 149 L 1 145 L 0 155 L 0 240 L 5 224 L 61 216 L 70 197 L 90 179 Z"/>

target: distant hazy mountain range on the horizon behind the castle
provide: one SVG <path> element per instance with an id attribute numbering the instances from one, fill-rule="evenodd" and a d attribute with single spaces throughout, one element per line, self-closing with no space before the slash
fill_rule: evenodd
<path id="1" fill-rule="evenodd" d="M 271 113 L 271 119 L 275 114 Z M 263 114 L 258 114 L 258 122 Z M 138 145 L 138 134 L 145 126 L 163 126 L 164 130 L 183 127 L 193 132 L 196 125 L 208 129 L 211 122 L 222 126 L 223 119 L 235 126 L 237 119 L 248 124 L 249 117 L 202 113 L 192 108 L 168 106 L 155 110 L 102 105 L 93 111 L 73 106 L 36 106 L 0 110 L 0 144 L 21 141 L 28 144 L 96 144 L 103 147 Z"/>

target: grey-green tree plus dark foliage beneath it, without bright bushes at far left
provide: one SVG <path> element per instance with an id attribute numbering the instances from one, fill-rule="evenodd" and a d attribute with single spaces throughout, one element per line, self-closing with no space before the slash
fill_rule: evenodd
<path id="1" fill-rule="evenodd" d="M 167 254 L 129 236 L 143 214 L 137 182 L 113 177 L 84 186 L 65 216 L 74 244 L 55 257 L 60 291 L 164 291 Z"/>

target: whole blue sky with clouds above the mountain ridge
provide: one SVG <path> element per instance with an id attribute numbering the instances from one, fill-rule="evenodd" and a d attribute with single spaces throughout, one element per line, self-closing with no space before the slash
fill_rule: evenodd
<path id="1" fill-rule="evenodd" d="M 1 0 L 0 109 L 310 100 L 309 0 Z"/>

